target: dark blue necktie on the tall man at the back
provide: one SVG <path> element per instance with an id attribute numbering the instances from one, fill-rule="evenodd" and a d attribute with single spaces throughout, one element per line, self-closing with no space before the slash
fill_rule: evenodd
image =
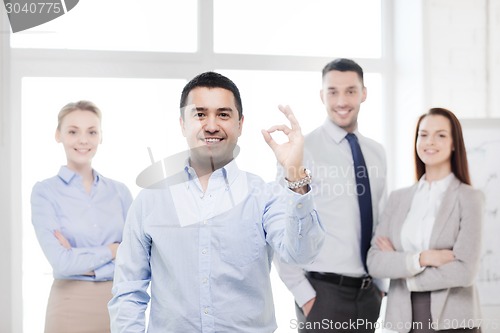
<path id="1" fill-rule="evenodd" d="M 366 255 L 370 248 L 372 238 L 372 196 L 370 191 L 370 181 L 368 179 L 368 169 L 365 159 L 358 143 L 358 138 L 353 133 L 346 135 L 351 146 L 352 159 L 354 161 L 354 175 L 356 177 L 356 192 L 358 194 L 359 212 L 361 216 L 361 259 L 366 271 Z"/>

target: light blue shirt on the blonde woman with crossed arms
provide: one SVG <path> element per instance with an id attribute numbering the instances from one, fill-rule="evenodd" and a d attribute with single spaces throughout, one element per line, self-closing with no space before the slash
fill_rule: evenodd
<path id="1" fill-rule="evenodd" d="M 90 193 L 80 175 L 61 167 L 57 176 L 38 182 L 31 194 L 36 236 L 55 279 L 108 281 L 114 260 L 108 244 L 121 242 L 132 196 L 127 187 L 94 171 Z M 54 236 L 69 241 L 65 249 Z M 85 276 L 94 271 L 95 276 Z"/>

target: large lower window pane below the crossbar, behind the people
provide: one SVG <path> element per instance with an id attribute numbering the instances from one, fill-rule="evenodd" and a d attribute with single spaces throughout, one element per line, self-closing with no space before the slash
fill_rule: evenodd
<path id="1" fill-rule="evenodd" d="M 260 130 L 288 123 L 278 104 L 288 104 L 307 134 L 326 118 L 319 98 L 321 74 L 217 70 L 240 88 L 245 122 L 239 140 L 237 162 L 266 181 L 276 176 L 276 161 Z M 383 118 L 380 76 L 366 74 L 370 98 L 362 105 L 360 127 L 370 137 L 382 137 Z M 41 332 L 45 305 L 52 284 L 52 270 L 36 240 L 30 221 L 29 194 L 35 182 L 54 176 L 64 165 L 63 148 L 54 140 L 59 109 L 70 101 L 89 99 L 103 112 L 103 143 L 93 166 L 104 176 L 127 184 L 134 196 L 140 188 L 137 175 L 150 164 L 148 147 L 155 160 L 187 148 L 178 123 L 178 97 L 185 80 L 117 78 L 23 79 L 23 285 L 25 332 Z M 127 96 L 126 98 L 123 98 Z M 283 135 L 275 136 L 278 141 Z M 41 149 L 43 147 L 43 149 Z M 258 156 L 259 163 L 255 163 Z M 293 298 L 273 273 L 277 318 L 284 323 L 294 316 Z M 289 319 L 288 319 L 289 320 Z"/>

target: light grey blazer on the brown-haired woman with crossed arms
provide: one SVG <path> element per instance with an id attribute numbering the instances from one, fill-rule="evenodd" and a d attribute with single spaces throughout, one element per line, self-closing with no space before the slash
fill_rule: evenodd
<path id="1" fill-rule="evenodd" d="M 432 328 L 477 327 L 481 309 L 474 281 L 481 251 L 483 194 L 457 178 L 452 180 L 436 216 L 430 248 L 452 249 L 455 260 L 415 275 L 409 269 L 415 253 L 403 252 L 401 228 L 416 189 L 417 184 L 390 195 L 368 252 L 370 274 L 391 279 L 384 328 L 398 332 L 411 328 L 411 292 L 406 278 L 415 282 L 418 290 L 414 291 L 431 292 Z M 388 237 L 396 251 L 379 250 L 375 245 L 378 236 Z"/>

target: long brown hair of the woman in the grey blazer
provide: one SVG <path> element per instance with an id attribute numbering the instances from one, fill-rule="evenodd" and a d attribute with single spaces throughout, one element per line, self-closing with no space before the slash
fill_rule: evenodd
<path id="1" fill-rule="evenodd" d="M 460 179 L 462 183 L 471 185 L 470 175 L 469 175 L 469 164 L 467 163 L 467 151 L 465 150 L 464 136 L 462 134 L 462 126 L 458 118 L 450 110 L 444 108 L 432 108 L 418 118 L 417 128 L 415 130 L 415 143 L 414 143 L 414 154 L 415 154 L 415 176 L 417 181 L 425 173 L 425 164 L 418 157 L 417 153 L 417 140 L 418 140 L 418 129 L 420 123 L 428 116 L 443 116 L 450 121 L 451 126 L 451 138 L 453 141 L 454 150 L 451 152 L 451 171 Z"/>

